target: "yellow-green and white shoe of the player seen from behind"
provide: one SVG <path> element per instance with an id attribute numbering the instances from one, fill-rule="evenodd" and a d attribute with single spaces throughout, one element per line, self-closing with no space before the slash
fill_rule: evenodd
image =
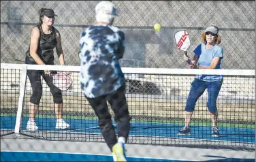
<path id="1" fill-rule="evenodd" d="M 127 161 L 125 156 L 125 144 L 117 143 L 112 148 L 112 155 L 114 161 Z"/>

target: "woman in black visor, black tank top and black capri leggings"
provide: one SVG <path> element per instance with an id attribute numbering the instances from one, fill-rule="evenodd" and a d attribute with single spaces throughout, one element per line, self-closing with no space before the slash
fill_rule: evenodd
<path id="1" fill-rule="evenodd" d="M 54 56 L 53 49 L 56 47 L 57 54 L 61 65 L 64 65 L 64 54 L 61 47 L 61 35 L 59 31 L 54 28 L 55 18 L 54 11 L 47 8 L 39 10 L 39 25 L 33 27 L 30 36 L 30 46 L 26 54 L 26 64 L 33 65 L 53 65 Z M 35 124 L 35 113 L 39 107 L 39 102 L 42 97 L 42 82 L 41 76 L 46 81 L 46 84 L 50 87 L 50 92 L 54 99 L 54 108 L 57 118 L 56 129 L 69 128 L 69 124 L 65 123 L 62 119 L 62 107 L 63 99 L 62 93 L 59 88 L 52 84 L 52 77 L 50 77 L 50 71 L 37 71 L 28 70 L 27 76 L 29 77 L 33 94 L 31 96 L 31 109 L 29 112 L 29 121 L 27 123 L 27 130 L 35 131 L 38 129 Z"/>

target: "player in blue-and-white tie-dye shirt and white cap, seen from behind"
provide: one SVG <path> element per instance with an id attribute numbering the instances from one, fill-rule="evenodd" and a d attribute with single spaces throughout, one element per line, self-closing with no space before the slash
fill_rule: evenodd
<path id="1" fill-rule="evenodd" d="M 125 50 L 125 34 L 112 25 L 117 16 L 112 2 L 101 1 L 96 5 L 95 12 L 97 23 L 80 35 L 80 84 L 99 118 L 99 128 L 114 161 L 126 161 L 124 146 L 131 117 L 125 97 L 125 77 L 118 62 Z M 114 111 L 118 139 L 107 101 Z"/>

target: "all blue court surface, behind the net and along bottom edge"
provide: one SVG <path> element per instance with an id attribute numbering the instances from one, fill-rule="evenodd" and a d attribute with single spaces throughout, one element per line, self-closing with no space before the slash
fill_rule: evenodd
<path id="1" fill-rule="evenodd" d="M 1 116 L 1 129 L 12 129 L 15 127 L 15 116 Z M 27 117 L 22 118 L 21 130 L 25 130 Z M 60 133 L 101 133 L 97 120 L 84 119 L 65 119 L 71 125 L 71 129 L 59 131 Z M 54 129 L 56 119 L 54 118 L 36 118 L 39 131 L 56 131 Z M 145 135 L 151 137 L 182 137 L 202 140 L 215 140 L 224 142 L 244 142 L 255 144 L 255 129 L 237 128 L 237 127 L 219 127 L 220 137 L 211 137 L 211 127 L 191 126 L 191 135 L 177 135 L 182 125 L 164 124 L 164 123 L 131 123 L 130 135 Z M 209 157 L 212 155 L 209 155 Z M 150 156 L 148 156 L 150 157 Z M 207 157 L 207 156 L 206 156 Z M 208 157 L 208 158 L 209 158 Z M 213 156 L 214 160 L 206 161 L 255 161 L 252 158 L 231 158 Z M 127 157 L 128 161 L 193 161 L 190 159 L 158 159 L 147 157 Z M 18 151 L 18 150 L 1 150 L 1 161 L 113 161 L 111 155 L 98 155 L 87 153 L 70 153 L 70 152 L 38 152 L 38 151 Z M 194 160 L 195 161 L 195 160 Z"/>

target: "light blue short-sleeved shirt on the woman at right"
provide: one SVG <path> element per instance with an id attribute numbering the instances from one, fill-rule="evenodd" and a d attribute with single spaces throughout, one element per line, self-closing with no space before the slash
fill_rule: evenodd
<path id="1" fill-rule="evenodd" d="M 205 44 L 200 44 L 199 46 L 197 46 L 197 48 L 195 48 L 194 53 L 197 56 L 199 56 L 198 65 L 203 67 L 209 67 L 214 57 L 220 57 L 221 59 L 223 59 L 223 49 L 218 45 L 215 45 L 210 49 L 206 49 Z M 221 59 L 216 69 L 221 69 Z M 223 76 L 222 75 L 197 75 L 195 78 L 199 80 L 204 80 L 206 82 L 214 82 L 217 80 L 222 80 Z"/>

